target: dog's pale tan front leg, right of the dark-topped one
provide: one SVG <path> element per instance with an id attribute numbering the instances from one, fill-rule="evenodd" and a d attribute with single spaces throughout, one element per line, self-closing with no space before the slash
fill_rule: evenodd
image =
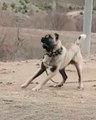
<path id="1" fill-rule="evenodd" d="M 39 83 L 39 84 L 38 84 L 35 88 L 33 88 L 32 90 L 33 90 L 33 91 L 39 91 L 39 90 L 42 88 L 42 86 L 48 82 L 49 79 L 51 79 L 53 76 L 56 75 L 57 72 L 58 72 L 58 70 L 55 70 L 54 72 L 50 72 L 50 74 L 47 76 L 47 78 L 46 78 L 44 81 L 42 81 L 41 83 Z"/>

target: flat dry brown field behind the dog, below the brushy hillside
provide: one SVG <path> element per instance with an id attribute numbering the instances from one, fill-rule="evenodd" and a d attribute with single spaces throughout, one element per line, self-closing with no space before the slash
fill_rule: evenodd
<path id="1" fill-rule="evenodd" d="M 0 29 L 0 60 L 25 60 L 41 58 L 43 55 L 40 39 L 50 32 L 58 32 L 62 43 L 74 42 L 81 32 L 63 32 L 50 30 L 1 28 Z M 92 34 L 91 53 L 96 53 L 96 34 Z"/>

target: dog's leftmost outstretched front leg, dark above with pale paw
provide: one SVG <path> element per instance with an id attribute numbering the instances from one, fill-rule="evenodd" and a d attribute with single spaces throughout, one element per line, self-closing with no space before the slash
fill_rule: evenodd
<path id="1" fill-rule="evenodd" d="M 44 66 L 44 64 L 41 64 L 41 68 L 40 70 L 37 72 L 36 75 L 34 75 L 34 77 L 28 81 L 26 81 L 24 84 L 21 85 L 22 88 L 26 88 L 35 78 L 37 78 L 38 76 L 40 76 L 44 71 L 46 70 L 46 67 Z"/>

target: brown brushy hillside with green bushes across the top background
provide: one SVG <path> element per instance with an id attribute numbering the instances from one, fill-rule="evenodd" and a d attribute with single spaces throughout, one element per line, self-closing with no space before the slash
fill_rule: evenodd
<path id="1" fill-rule="evenodd" d="M 82 10 L 84 8 L 83 0 L 80 0 L 79 2 L 78 0 L 71 0 L 70 2 L 67 0 L 58 0 L 56 2 L 57 7 L 55 12 L 53 12 L 54 3 L 52 0 L 4 1 L 0 4 L 1 26 L 82 31 Z M 73 11 L 77 11 L 78 14 L 72 14 Z M 71 15 L 68 15 L 70 12 Z M 96 32 L 95 12 L 93 17 L 92 32 Z"/>

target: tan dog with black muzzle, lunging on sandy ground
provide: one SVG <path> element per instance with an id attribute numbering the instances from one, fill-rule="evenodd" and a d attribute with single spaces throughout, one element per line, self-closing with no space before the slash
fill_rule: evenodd
<path id="1" fill-rule="evenodd" d="M 47 34 L 41 38 L 42 47 L 45 50 L 45 54 L 43 60 L 41 62 L 41 68 L 37 72 L 36 75 L 33 76 L 32 79 L 26 81 L 21 85 L 22 88 L 26 88 L 35 78 L 41 75 L 48 68 L 50 69 L 50 73 L 47 78 L 39 83 L 32 90 L 39 91 L 44 84 L 46 84 L 53 76 L 55 76 L 58 72 L 62 76 L 62 81 L 55 85 L 55 87 L 61 87 L 67 80 L 67 74 L 65 72 L 65 68 L 69 64 L 73 64 L 76 67 L 78 74 L 78 83 L 79 89 L 83 88 L 82 84 L 82 67 L 83 67 L 83 58 L 80 50 L 80 43 L 82 40 L 85 40 L 86 35 L 81 34 L 75 43 L 73 43 L 68 49 L 66 49 L 60 39 L 58 33 Z"/>

